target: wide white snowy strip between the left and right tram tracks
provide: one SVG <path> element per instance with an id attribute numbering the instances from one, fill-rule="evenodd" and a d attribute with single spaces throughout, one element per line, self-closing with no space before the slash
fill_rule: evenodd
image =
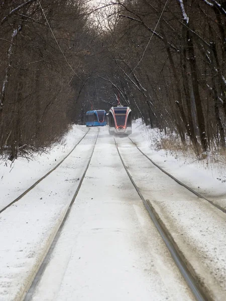
<path id="1" fill-rule="evenodd" d="M 105 128 L 32 298 L 91 299 L 193 300 Z"/>

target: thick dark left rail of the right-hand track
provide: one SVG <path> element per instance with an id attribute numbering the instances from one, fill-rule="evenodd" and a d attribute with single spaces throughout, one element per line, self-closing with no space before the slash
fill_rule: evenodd
<path id="1" fill-rule="evenodd" d="M 120 156 L 120 159 L 122 161 L 122 164 L 131 180 L 131 182 L 133 183 L 138 195 L 140 196 L 141 200 L 143 201 L 143 204 L 145 206 L 145 208 L 147 209 L 149 216 L 151 217 L 154 225 L 156 226 L 157 230 L 159 231 L 163 241 L 165 242 L 174 262 L 176 263 L 177 267 L 179 268 L 179 271 L 181 272 L 182 276 L 184 277 L 185 281 L 187 282 L 188 286 L 190 287 L 193 295 L 195 296 L 197 301 L 207 301 L 209 300 L 209 298 L 204 294 L 204 292 L 202 291 L 202 289 L 197 285 L 195 278 L 193 277 L 193 275 L 190 273 L 190 271 L 188 270 L 186 264 L 183 262 L 179 252 L 176 249 L 176 244 L 175 242 L 172 243 L 171 239 L 170 239 L 170 233 L 169 231 L 161 224 L 163 224 L 163 222 L 161 221 L 161 219 L 158 217 L 156 217 L 153 209 L 151 208 L 150 204 L 145 200 L 145 198 L 143 197 L 142 193 L 140 192 L 140 189 L 138 188 L 138 186 L 136 185 L 136 183 L 134 182 L 131 174 L 128 171 L 128 168 L 126 167 L 123 158 L 120 154 L 119 151 L 119 146 L 118 143 L 115 140 L 115 144 L 118 150 L 118 154 Z M 160 222 L 158 221 L 158 219 L 160 220 Z"/>

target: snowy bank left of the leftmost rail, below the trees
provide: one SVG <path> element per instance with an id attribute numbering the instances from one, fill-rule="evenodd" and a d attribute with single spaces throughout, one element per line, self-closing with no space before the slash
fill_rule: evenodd
<path id="1" fill-rule="evenodd" d="M 47 153 L 34 154 L 30 161 L 0 161 L 0 210 L 53 169 L 86 132 L 85 126 L 73 125 L 62 143 L 47 149 Z"/>

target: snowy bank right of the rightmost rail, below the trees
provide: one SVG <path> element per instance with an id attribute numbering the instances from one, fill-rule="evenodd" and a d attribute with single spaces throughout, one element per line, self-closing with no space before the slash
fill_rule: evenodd
<path id="1" fill-rule="evenodd" d="M 226 209 L 226 162 L 214 164 L 211 157 L 199 161 L 193 157 L 185 157 L 179 152 L 172 155 L 166 149 L 156 150 L 156 145 L 161 137 L 164 137 L 164 133 L 145 126 L 141 119 L 133 124 L 133 134 L 130 137 L 161 168 Z"/>

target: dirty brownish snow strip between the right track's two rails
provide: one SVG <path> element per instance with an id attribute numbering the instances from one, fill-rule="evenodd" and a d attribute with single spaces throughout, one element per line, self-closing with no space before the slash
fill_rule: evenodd
<path id="1" fill-rule="evenodd" d="M 205 290 L 214 300 L 226 293 L 226 215 L 178 185 L 147 158 L 129 138 L 116 138 L 135 183 L 170 231 Z"/>

